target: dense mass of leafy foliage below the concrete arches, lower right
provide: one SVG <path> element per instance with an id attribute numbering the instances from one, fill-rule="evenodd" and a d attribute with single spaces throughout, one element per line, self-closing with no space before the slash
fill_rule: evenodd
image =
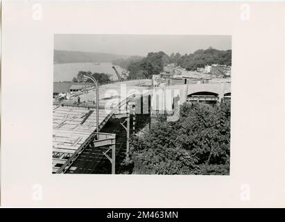
<path id="1" fill-rule="evenodd" d="M 230 104 L 184 103 L 179 121 L 159 119 L 130 148 L 133 173 L 229 174 Z"/>

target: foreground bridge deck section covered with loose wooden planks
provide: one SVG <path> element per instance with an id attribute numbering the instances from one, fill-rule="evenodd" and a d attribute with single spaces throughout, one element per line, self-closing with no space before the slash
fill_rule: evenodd
<path id="1" fill-rule="evenodd" d="M 87 116 L 90 110 L 93 112 Z M 110 112 L 111 110 L 99 109 L 99 123 Z M 83 119 L 85 119 L 84 122 Z M 96 130 L 96 110 L 94 108 L 55 107 L 53 110 L 53 157 L 67 161 L 68 157 L 85 142 L 94 130 Z M 63 164 L 62 161 L 53 161 L 53 172 L 57 171 L 61 164 Z"/>

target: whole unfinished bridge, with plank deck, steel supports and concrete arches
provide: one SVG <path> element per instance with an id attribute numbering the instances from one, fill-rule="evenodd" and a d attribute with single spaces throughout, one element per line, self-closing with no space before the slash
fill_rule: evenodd
<path id="1" fill-rule="evenodd" d="M 126 89 L 122 85 L 126 86 Z M 89 154 L 93 152 L 92 155 L 96 155 L 97 162 L 101 159 L 110 160 L 112 173 L 115 173 L 115 159 L 118 154 L 115 146 L 116 135 L 96 132 L 95 92 L 92 89 L 86 94 L 81 94 L 80 104 L 76 103 L 76 98 L 53 103 L 53 173 L 76 172 L 74 162 L 80 159 L 83 151 Z M 121 94 L 125 93 L 126 98 L 122 99 Z M 229 99 L 231 91 L 230 83 L 152 87 L 151 80 L 132 80 L 102 85 L 99 87 L 99 131 L 111 118 L 126 119 L 127 126 L 124 128 L 130 130 L 130 114 L 133 112 L 130 103 L 148 94 L 151 96 L 150 109 L 163 110 L 167 104 L 172 107 L 173 98 L 177 95 L 180 104 L 186 101 L 216 103 L 222 99 Z"/>

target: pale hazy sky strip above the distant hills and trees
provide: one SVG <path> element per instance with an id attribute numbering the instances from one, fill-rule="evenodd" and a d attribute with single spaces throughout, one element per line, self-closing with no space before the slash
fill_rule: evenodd
<path id="1" fill-rule="evenodd" d="M 230 35 L 87 35 L 55 34 L 54 49 L 146 56 L 149 52 L 193 53 L 197 49 L 232 49 Z"/>

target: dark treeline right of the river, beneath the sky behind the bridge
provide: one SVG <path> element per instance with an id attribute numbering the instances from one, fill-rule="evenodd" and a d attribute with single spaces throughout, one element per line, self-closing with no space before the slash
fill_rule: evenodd
<path id="1" fill-rule="evenodd" d="M 113 60 L 114 65 L 130 71 L 129 78 L 151 78 L 164 70 L 165 65 L 174 64 L 187 71 L 195 71 L 205 65 L 232 65 L 232 50 L 198 49 L 193 53 L 171 53 L 167 55 L 164 51 L 150 52 L 146 57 L 130 56 L 126 59 Z"/>

